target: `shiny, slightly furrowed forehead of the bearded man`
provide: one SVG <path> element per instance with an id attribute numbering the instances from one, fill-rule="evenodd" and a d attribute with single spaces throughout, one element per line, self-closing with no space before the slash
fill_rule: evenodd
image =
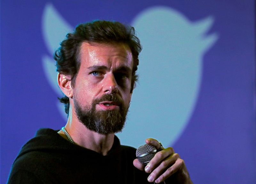
<path id="1" fill-rule="evenodd" d="M 83 42 L 80 46 L 81 67 L 104 65 L 115 67 L 125 65 L 132 67 L 132 53 L 130 47 L 123 43 L 99 44 Z"/>

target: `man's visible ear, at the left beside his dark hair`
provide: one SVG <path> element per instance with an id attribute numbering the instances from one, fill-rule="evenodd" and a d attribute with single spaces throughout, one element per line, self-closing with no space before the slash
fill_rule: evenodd
<path id="1" fill-rule="evenodd" d="M 73 97 L 73 88 L 71 86 L 71 77 L 58 73 L 57 82 L 61 91 L 69 98 Z"/>

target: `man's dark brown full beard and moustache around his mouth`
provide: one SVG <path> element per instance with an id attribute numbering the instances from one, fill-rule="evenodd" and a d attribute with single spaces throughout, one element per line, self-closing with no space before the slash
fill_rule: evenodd
<path id="1" fill-rule="evenodd" d="M 119 109 L 96 110 L 96 104 L 103 101 L 113 101 L 118 104 Z M 116 94 L 104 94 L 100 98 L 94 99 L 91 108 L 81 107 L 74 98 L 74 106 L 78 120 L 86 128 L 104 135 L 122 131 L 129 108 L 124 107 L 123 100 Z"/>

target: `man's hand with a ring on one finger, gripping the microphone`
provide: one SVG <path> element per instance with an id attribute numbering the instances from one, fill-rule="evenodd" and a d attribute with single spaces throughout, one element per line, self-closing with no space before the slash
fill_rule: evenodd
<path id="1" fill-rule="evenodd" d="M 148 138 L 145 142 L 148 145 L 155 146 L 156 149 L 161 147 L 159 142 L 153 138 Z M 171 147 L 166 149 L 162 147 L 160 150 L 145 168 L 138 159 L 133 160 L 133 165 L 141 171 L 145 169 L 146 173 L 150 173 L 148 176 L 149 182 L 161 183 L 170 177 L 172 183 L 193 184 L 189 178 L 184 160 L 180 159 L 180 155 L 175 153 Z"/>

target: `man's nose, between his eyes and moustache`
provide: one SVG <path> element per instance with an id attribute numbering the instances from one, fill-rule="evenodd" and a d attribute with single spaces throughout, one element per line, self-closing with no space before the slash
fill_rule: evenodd
<path id="1" fill-rule="evenodd" d="M 113 74 L 107 74 L 104 78 L 104 86 L 103 86 L 103 92 L 112 94 L 112 93 L 117 93 L 118 88 L 117 88 L 117 83 L 115 76 Z"/>

